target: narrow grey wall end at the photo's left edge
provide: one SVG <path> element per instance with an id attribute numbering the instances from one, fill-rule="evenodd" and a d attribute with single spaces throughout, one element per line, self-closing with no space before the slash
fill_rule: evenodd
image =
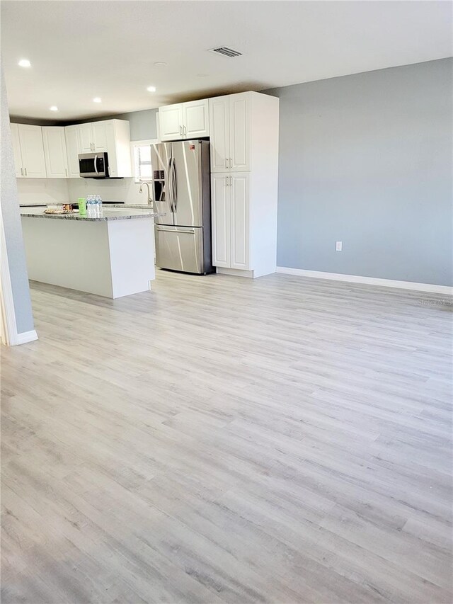
<path id="1" fill-rule="evenodd" d="M 14 171 L 8 99 L 1 71 L 1 216 L 6 241 L 6 253 L 11 275 L 14 312 L 18 334 L 33 331 L 33 314 L 28 287 L 27 265 L 23 249 L 21 215 Z"/>

